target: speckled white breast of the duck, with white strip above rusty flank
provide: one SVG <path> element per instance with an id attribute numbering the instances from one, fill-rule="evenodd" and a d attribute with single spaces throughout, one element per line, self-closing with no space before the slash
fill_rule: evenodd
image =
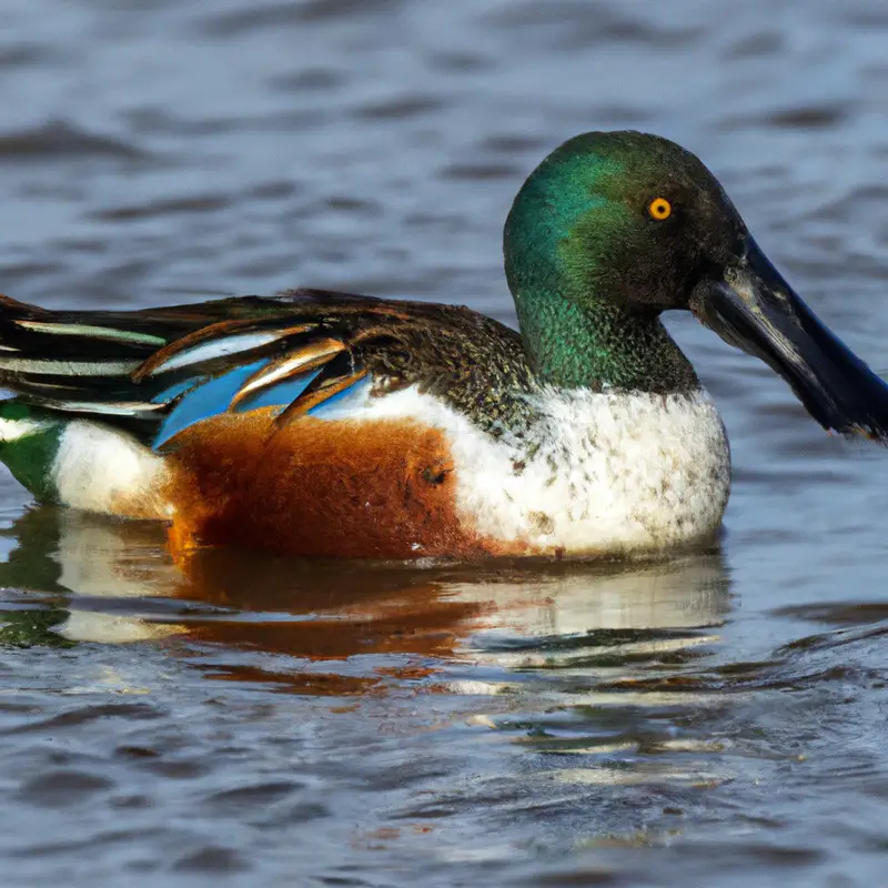
<path id="1" fill-rule="evenodd" d="M 523 442 L 495 440 L 415 389 L 372 398 L 352 416 L 414 417 L 446 432 L 461 516 L 495 539 L 619 553 L 688 543 L 718 527 L 730 451 L 706 392 L 552 389 L 535 406 L 541 418 Z"/>

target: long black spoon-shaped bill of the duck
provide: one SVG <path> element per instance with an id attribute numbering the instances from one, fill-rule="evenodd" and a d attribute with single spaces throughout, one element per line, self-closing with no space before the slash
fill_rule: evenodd
<path id="1" fill-rule="evenodd" d="M 690 309 L 779 373 L 825 428 L 888 442 L 888 384 L 817 320 L 751 238 L 722 280 L 696 286 Z"/>

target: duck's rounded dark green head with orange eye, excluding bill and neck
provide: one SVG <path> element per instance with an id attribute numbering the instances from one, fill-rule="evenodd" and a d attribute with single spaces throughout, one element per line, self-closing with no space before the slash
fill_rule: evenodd
<path id="1" fill-rule="evenodd" d="M 746 229 L 716 178 L 674 142 L 592 132 L 553 151 L 515 198 L 505 262 L 518 302 L 551 289 L 581 306 L 687 306 L 706 262 Z"/>

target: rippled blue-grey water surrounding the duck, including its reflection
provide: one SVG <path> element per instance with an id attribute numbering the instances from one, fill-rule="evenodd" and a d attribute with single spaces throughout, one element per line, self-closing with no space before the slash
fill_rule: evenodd
<path id="1" fill-rule="evenodd" d="M 885 372 L 887 32 L 875 0 L 6 0 L 0 285 L 509 320 L 522 178 L 636 127 Z M 173 564 L 4 474 L 4 884 L 884 879 L 888 457 L 673 327 L 736 470 L 719 545 L 677 559 Z"/>

